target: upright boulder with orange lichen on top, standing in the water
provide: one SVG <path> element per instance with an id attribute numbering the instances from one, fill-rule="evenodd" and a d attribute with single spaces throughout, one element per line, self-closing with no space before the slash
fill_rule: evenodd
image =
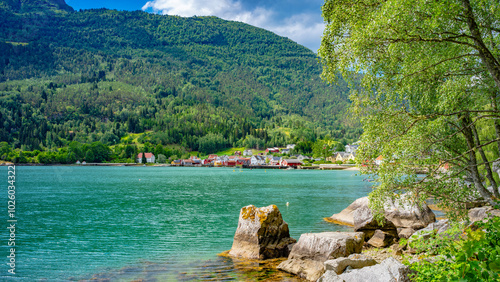
<path id="1" fill-rule="evenodd" d="M 262 208 L 249 205 L 240 211 L 229 255 L 247 259 L 286 257 L 289 245 L 295 242 L 276 205 Z"/>

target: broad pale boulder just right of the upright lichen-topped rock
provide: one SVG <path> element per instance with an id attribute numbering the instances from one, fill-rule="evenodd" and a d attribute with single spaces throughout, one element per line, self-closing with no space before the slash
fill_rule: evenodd
<path id="1" fill-rule="evenodd" d="M 324 272 L 325 261 L 360 253 L 363 236 L 362 232 L 302 234 L 293 246 L 288 260 L 278 265 L 278 269 L 316 281 Z"/>

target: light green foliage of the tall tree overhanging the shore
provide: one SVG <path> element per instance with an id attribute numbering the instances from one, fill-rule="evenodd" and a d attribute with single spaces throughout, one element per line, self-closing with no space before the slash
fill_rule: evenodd
<path id="1" fill-rule="evenodd" d="M 352 112 L 364 129 L 357 159 L 363 173 L 378 176 L 372 207 L 380 214 L 385 199 L 403 192 L 456 215 L 479 197 L 492 204 L 500 196 L 492 168 L 500 148 L 500 3 L 327 0 L 323 16 L 323 77 L 338 81 L 340 72 L 352 86 Z"/>

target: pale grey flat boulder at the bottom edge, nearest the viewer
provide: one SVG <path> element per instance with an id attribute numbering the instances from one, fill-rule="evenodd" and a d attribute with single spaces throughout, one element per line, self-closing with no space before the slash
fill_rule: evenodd
<path id="1" fill-rule="evenodd" d="M 409 268 L 396 259 L 389 257 L 380 264 L 367 266 L 360 269 L 354 269 L 349 272 L 337 274 L 330 270 L 318 280 L 321 282 L 354 282 L 354 281 L 370 281 L 370 282 L 407 282 Z"/>

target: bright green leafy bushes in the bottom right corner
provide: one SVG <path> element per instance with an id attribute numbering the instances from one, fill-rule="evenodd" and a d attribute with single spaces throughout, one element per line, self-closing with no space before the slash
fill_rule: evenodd
<path id="1" fill-rule="evenodd" d="M 500 217 L 479 223 L 473 231 L 453 228 L 414 247 L 438 254 L 412 264 L 413 281 L 498 281 L 500 280 Z M 463 233 L 462 233 L 463 232 Z M 458 238 L 450 240 L 450 238 Z"/>

